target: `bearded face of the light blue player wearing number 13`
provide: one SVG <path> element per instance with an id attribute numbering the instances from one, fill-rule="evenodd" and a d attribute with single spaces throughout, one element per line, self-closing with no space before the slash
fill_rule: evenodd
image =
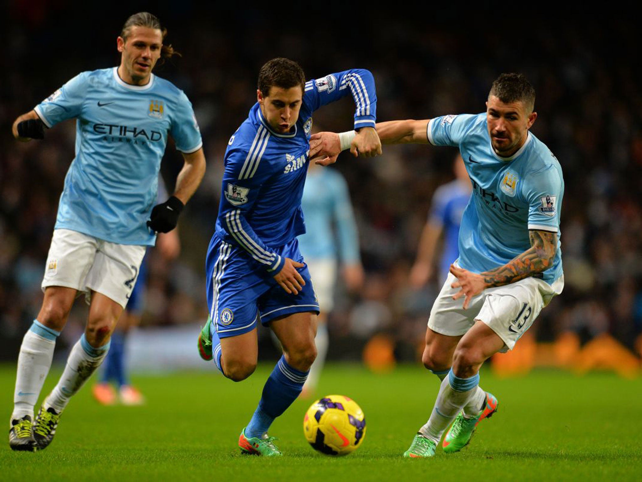
<path id="1" fill-rule="evenodd" d="M 530 109 L 521 100 L 503 103 L 492 95 L 486 102 L 486 120 L 490 143 L 501 157 L 510 157 L 526 142 L 528 129 L 535 122 L 537 112 Z"/>

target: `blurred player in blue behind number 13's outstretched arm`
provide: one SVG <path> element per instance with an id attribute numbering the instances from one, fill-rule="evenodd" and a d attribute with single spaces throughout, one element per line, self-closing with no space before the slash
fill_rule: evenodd
<path id="1" fill-rule="evenodd" d="M 433 276 L 437 246 L 442 235 L 444 237 L 438 264 L 440 285 L 446 281 L 451 263 L 459 257 L 459 226 L 473 190 L 461 154 L 455 156 L 453 172 L 455 179 L 439 186 L 435 191 L 428 222 L 421 233 L 417 259 L 410 271 L 410 283 L 417 289 L 426 285 Z"/>

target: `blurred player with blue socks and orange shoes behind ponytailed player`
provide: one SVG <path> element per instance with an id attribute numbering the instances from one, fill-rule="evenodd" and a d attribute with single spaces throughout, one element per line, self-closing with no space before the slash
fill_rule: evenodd
<path id="1" fill-rule="evenodd" d="M 159 176 L 159 193 L 157 202 L 168 198 L 168 192 Z M 169 233 L 160 233 L 156 237 L 155 249 L 165 262 L 172 262 L 180 253 L 180 239 L 178 228 Z M 130 294 L 125 311 L 118 320 L 118 325 L 112 333 L 109 351 L 102 365 L 100 382 L 92 387 L 92 395 L 102 405 L 113 405 L 120 400 L 123 405 L 141 405 L 145 399 L 141 391 L 132 385 L 129 378 L 127 338 L 136 326 L 140 325 L 145 305 L 145 291 L 147 287 L 147 263 L 145 255 L 138 272 L 138 280 Z M 114 382 L 114 386 L 110 384 Z"/>

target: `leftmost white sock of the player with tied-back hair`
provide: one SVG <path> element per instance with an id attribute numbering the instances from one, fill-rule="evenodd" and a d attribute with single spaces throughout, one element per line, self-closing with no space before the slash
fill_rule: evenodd
<path id="1" fill-rule="evenodd" d="M 30 330 L 22 338 L 15 375 L 12 420 L 25 415 L 31 416 L 33 420 L 33 407 L 38 401 L 44 380 L 51 368 L 53 349 L 58 335 L 60 332 L 51 330 L 34 320 Z"/>

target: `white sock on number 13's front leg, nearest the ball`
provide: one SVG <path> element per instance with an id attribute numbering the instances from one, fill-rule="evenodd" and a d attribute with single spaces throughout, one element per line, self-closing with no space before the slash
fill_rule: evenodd
<path id="1" fill-rule="evenodd" d="M 442 434 L 477 391 L 479 375 L 460 379 L 453 372 L 442 381 L 435 406 L 426 425 L 419 429 L 424 437 L 439 443 Z"/>

